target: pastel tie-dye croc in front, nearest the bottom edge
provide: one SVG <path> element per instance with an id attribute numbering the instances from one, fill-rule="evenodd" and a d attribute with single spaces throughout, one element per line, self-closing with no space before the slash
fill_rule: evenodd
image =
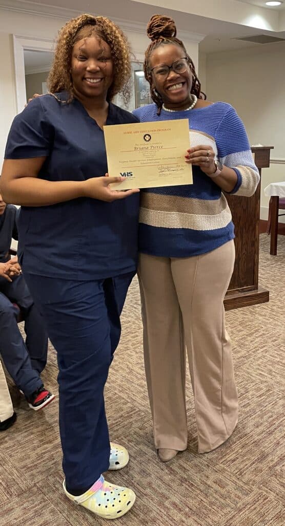
<path id="1" fill-rule="evenodd" d="M 63 485 L 64 492 L 70 500 L 103 519 L 122 517 L 131 509 L 135 501 L 135 493 L 132 490 L 105 481 L 103 475 L 88 491 L 78 497 L 68 493 L 65 480 Z"/>

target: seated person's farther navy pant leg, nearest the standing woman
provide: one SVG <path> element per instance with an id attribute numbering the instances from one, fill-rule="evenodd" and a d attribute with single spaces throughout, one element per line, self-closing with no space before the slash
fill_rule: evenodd
<path id="1" fill-rule="evenodd" d="M 15 302 L 24 313 L 26 348 L 29 353 L 31 367 L 40 375 L 47 363 L 48 337 L 43 317 L 38 312 L 31 297 L 24 277 L 13 278 L 6 284 L 5 296 Z"/>

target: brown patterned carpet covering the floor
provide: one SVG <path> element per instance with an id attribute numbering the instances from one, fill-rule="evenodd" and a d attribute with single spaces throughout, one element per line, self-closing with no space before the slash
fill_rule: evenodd
<path id="1" fill-rule="evenodd" d="M 270 302 L 226 313 L 234 347 L 240 417 L 233 436 L 211 453 L 197 453 L 193 395 L 187 383 L 187 451 L 162 463 L 152 442 L 143 371 L 138 283 L 123 312 L 123 335 L 105 390 L 110 436 L 128 447 L 130 463 L 108 479 L 136 492 L 118 526 L 284 526 L 284 288 L 285 237 L 269 255 L 260 236 L 260 285 Z M 55 353 L 43 373 L 57 392 Z M 61 490 L 58 408 L 38 414 L 9 383 L 18 419 L 0 436 L 0 526 L 105 524 L 68 501 Z"/>

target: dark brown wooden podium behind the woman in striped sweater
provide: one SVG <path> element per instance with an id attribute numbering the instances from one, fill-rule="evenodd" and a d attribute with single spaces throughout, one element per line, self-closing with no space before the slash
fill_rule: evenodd
<path id="1" fill-rule="evenodd" d="M 252 147 L 261 177 L 261 168 L 269 167 L 273 146 Z M 258 286 L 260 183 L 251 197 L 225 194 L 235 225 L 236 261 L 224 299 L 225 310 L 269 301 L 269 291 Z"/>

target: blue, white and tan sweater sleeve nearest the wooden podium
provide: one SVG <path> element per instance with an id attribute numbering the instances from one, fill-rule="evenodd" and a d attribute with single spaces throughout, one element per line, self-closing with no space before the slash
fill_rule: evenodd
<path id="1" fill-rule="evenodd" d="M 235 170 L 238 180 L 230 192 L 239 196 L 252 196 L 260 180 L 259 171 L 252 157 L 245 126 L 230 106 L 215 131 L 220 162 Z"/>

